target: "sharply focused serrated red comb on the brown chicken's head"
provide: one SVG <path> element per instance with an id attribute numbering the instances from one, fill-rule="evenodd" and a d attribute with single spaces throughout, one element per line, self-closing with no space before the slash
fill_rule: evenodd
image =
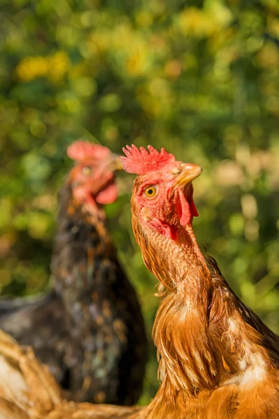
<path id="1" fill-rule="evenodd" d="M 128 173 L 136 173 L 137 175 L 144 175 L 144 173 L 160 170 L 167 163 L 175 161 L 173 154 L 169 154 L 164 148 L 160 152 L 152 145 L 148 145 L 147 151 L 144 147 L 138 149 L 135 145 L 126 145 L 123 147 L 123 152 L 126 157 L 120 157 L 123 169 Z"/>

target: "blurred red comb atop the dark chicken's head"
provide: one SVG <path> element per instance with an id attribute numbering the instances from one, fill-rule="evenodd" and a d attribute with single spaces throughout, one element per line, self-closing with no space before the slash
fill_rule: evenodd
<path id="1" fill-rule="evenodd" d="M 103 145 L 93 144 L 89 141 L 77 140 L 67 148 L 70 159 L 83 161 L 85 159 L 105 159 L 110 150 Z"/>

